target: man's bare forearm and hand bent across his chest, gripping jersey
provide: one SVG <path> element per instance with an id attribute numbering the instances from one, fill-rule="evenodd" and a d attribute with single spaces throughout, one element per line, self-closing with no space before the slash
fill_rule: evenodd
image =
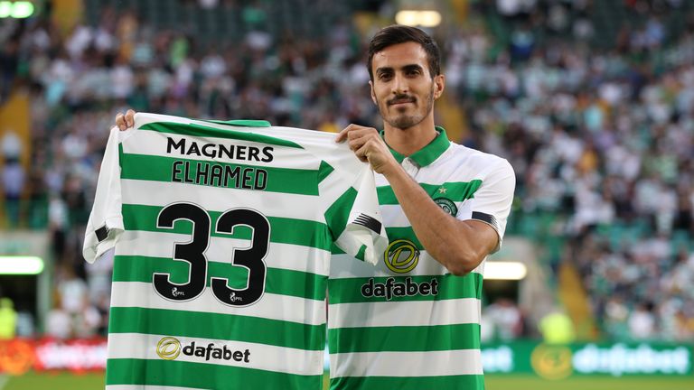
<path id="1" fill-rule="evenodd" d="M 402 169 L 376 129 L 350 125 L 335 139 L 344 140 L 362 161 L 368 161 L 375 172 L 386 177 L 419 242 L 451 274 L 470 273 L 497 246 L 499 235 L 490 225 L 473 219 L 458 220 L 438 207 Z"/>

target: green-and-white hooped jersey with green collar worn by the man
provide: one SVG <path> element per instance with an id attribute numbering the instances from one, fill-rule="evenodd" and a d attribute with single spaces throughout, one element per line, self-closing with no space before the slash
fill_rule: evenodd
<path id="1" fill-rule="evenodd" d="M 436 204 L 455 218 L 489 224 L 501 245 L 515 186 L 511 165 L 450 143 L 437 130 L 407 158 L 391 152 Z M 350 255 L 333 255 L 331 263 L 331 388 L 483 389 L 484 263 L 464 276 L 449 274 L 417 240 L 388 181 L 376 175 L 376 183 L 386 252 L 376 267 Z"/>

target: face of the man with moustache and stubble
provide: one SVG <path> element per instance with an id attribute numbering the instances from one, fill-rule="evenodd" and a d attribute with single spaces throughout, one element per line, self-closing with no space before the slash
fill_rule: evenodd
<path id="1" fill-rule="evenodd" d="M 373 56 L 371 98 L 389 125 L 407 129 L 432 112 L 443 91 L 443 76 L 429 74 L 427 52 L 417 42 L 389 46 Z"/>

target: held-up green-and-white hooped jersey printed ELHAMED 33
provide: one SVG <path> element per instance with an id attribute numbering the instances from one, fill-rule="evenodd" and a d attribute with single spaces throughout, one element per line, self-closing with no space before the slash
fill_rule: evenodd
<path id="1" fill-rule="evenodd" d="M 113 248 L 107 389 L 320 389 L 331 246 L 385 246 L 334 135 L 137 114 L 111 130 L 84 256 Z M 372 266 L 372 265 L 370 265 Z"/>

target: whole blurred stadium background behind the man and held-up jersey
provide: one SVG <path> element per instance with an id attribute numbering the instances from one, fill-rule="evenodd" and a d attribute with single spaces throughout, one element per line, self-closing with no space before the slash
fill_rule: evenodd
<path id="1" fill-rule="evenodd" d="M 32 0 L 0 1 L 0 389 L 103 387 L 81 244 L 118 112 L 380 128 L 392 23 L 439 43 L 437 124 L 517 175 L 488 388 L 694 388 L 694 1 Z"/>

